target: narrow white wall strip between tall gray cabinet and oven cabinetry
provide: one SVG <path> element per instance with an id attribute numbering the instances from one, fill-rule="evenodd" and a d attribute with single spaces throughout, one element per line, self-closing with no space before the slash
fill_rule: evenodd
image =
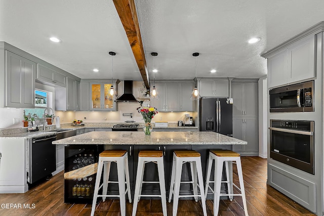
<path id="1" fill-rule="evenodd" d="M 267 158 L 267 77 L 261 77 L 258 83 L 259 94 L 259 157 Z"/>

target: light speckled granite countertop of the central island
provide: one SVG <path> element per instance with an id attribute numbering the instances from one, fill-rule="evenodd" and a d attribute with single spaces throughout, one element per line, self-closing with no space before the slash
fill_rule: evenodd
<path id="1" fill-rule="evenodd" d="M 64 145 L 246 145 L 238 140 L 214 132 L 89 132 L 53 144 Z"/>

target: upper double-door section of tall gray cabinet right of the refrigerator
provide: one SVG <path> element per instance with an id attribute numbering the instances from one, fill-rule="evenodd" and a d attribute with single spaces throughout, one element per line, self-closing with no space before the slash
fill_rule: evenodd
<path id="1" fill-rule="evenodd" d="M 258 116 L 258 83 L 232 81 L 233 117 Z"/>

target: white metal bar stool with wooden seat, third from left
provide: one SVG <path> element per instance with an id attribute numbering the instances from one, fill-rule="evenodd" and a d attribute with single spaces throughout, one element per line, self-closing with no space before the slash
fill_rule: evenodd
<path id="1" fill-rule="evenodd" d="M 184 163 L 190 163 L 191 169 L 191 182 L 181 182 L 182 165 Z M 197 177 L 199 184 L 197 184 Z M 193 195 L 179 195 L 181 183 L 192 183 Z M 200 194 L 198 195 L 197 186 L 199 187 Z M 170 194 L 169 202 L 171 202 L 173 194 L 173 209 L 172 215 L 176 216 L 178 211 L 178 201 L 181 197 L 194 197 L 195 201 L 198 201 L 198 197 L 201 198 L 201 204 L 203 205 L 204 215 L 207 216 L 206 210 L 206 198 L 204 193 L 203 183 L 203 171 L 201 170 L 200 153 L 193 150 L 179 150 L 173 153 L 173 163 L 171 172 Z"/>

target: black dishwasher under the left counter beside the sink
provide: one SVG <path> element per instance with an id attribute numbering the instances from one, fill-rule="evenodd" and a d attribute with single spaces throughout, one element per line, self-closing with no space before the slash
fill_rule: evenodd
<path id="1" fill-rule="evenodd" d="M 33 184 L 56 170 L 56 135 L 33 138 L 29 141 L 27 181 Z"/>

